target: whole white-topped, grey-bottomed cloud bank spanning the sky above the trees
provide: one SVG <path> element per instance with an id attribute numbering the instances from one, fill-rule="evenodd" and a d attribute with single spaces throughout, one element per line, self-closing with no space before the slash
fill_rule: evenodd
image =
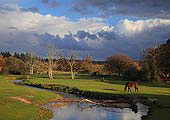
<path id="1" fill-rule="evenodd" d="M 12 7 L 9 7 L 12 8 Z M 36 51 L 45 56 L 51 42 L 65 53 L 75 50 L 94 59 L 125 53 L 139 59 L 140 52 L 170 38 L 170 19 L 121 20 L 108 26 L 102 18 L 72 21 L 65 16 L 0 10 L 0 50 Z"/>

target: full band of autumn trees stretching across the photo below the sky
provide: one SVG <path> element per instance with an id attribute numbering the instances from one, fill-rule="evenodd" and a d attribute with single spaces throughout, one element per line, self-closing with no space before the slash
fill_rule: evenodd
<path id="1" fill-rule="evenodd" d="M 142 52 L 141 61 L 124 54 L 109 56 L 105 61 L 93 61 L 90 55 L 79 60 L 75 52 L 69 57 L 56 57 L 57 49 L 49 46 L 47 58 L 32 53 L 0 53 L 0 73 L 3 74 L 48 74 L 53 79 L 56 71 L 70 72 L 74 79 L 77 73 L 92 73 L 99 76 L 118 76 L 124 80 L 170 80 L 170 40 Z"/>

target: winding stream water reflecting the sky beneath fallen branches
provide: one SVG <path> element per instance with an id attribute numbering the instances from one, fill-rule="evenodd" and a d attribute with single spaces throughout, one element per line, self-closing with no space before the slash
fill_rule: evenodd
<path id="1" fill-rule="evenodd" d="M 14 82 L 22 82 L 22 80 L 15 80 Z M 71 98 L 74 100 L 82 99 L 72 94 L 63 92 L 56 93 L 62 95 L 64 98 Z M 137 103 L 137 113 L 134 113 L 130 108 L 88 107 L 90 105 L 90 103 L 81 103 L 79 105 L 75 102 L 67 104 L 49 102 L 44 107 L 53 112 L 53 118 L 51 120 L 141 120 L 141 117 L 147 115 L 148 112 L 148 106 L 141 103 Z M 81 109 L 82 107 L 87 109 Z"/>

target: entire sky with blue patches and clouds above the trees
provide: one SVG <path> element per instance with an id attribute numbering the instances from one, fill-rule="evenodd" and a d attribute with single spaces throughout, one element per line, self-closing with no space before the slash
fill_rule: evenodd
<path id="1" fill-rule="evenodd" d="M 141 53 L 170 39 L 170 0 L 0 0 L 0 51 L 45 57 L 76 51 L 105 60 Z"/>

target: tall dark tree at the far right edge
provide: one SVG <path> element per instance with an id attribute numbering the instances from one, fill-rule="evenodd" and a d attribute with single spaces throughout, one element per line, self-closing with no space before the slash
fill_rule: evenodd
<path id="1" fill-rule="evenodd" d="M 150 81 L 170 80 L 170 39 L 143 52 L 143 63 Z"/>

